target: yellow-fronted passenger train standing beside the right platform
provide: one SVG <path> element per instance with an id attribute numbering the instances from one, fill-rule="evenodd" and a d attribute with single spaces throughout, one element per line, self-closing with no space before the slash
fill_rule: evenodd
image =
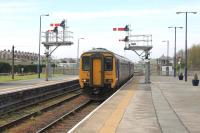
<path id="1" fill-rule="evenodd" d="M 79 83 L 84 95 L 104 100 L 134 75 L 134 63 L 104 48 L 93 48 L 80 57 Z"/>

